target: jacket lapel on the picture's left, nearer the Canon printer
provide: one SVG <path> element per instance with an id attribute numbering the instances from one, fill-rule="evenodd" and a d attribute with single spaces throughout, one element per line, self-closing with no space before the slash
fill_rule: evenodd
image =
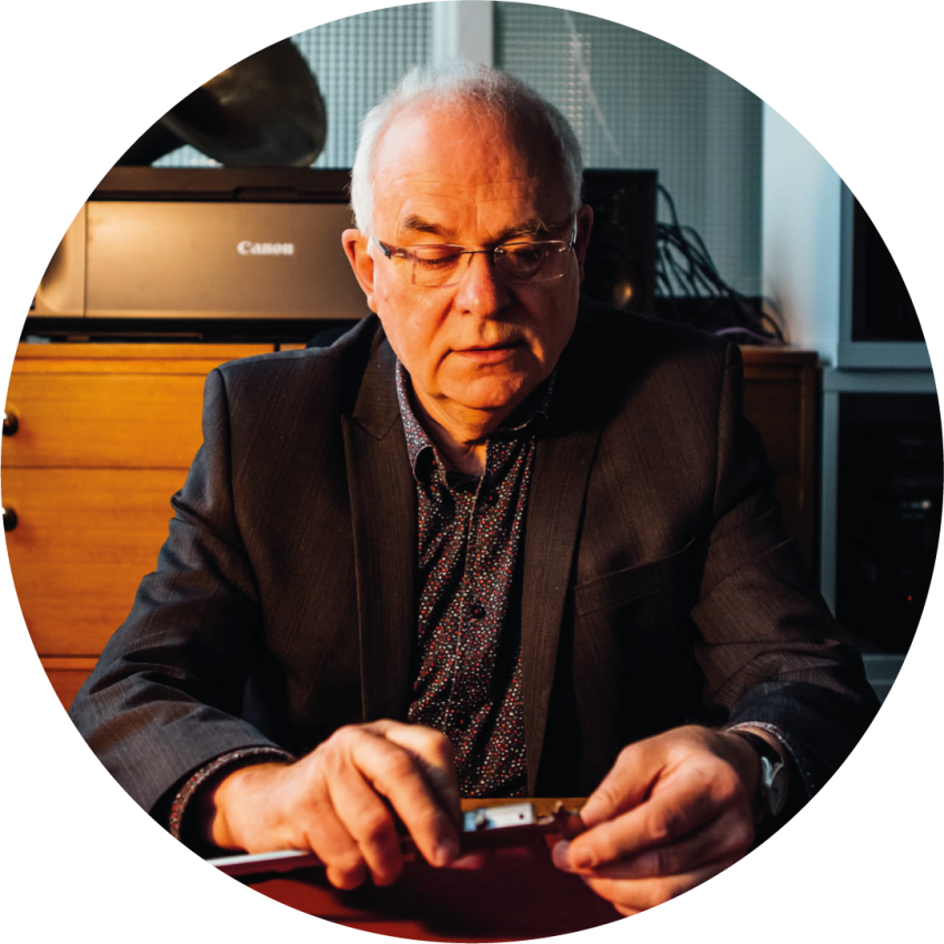
<path id="1" fill-rule="evenodd" d="M 404 719 L 416 626 L 416 494 L 396 403 L 396 359 L 382 341 L 353 416 L 343 416 L 360 622 L 364 721 Z"/>

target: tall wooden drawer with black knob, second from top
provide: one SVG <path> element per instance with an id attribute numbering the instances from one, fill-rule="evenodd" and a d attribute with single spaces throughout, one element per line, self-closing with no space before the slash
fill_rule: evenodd
<path id="1" fill-rule="evenodd" d="M 4 535 L 20 613 L 39 655 L 97 656 L 154 570 L 185 469 L 3 469 Z"/>

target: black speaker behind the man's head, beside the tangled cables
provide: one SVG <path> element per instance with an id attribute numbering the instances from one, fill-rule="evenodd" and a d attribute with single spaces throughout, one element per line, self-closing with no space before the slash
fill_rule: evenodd
<path id="1" fill-rule="evenodd" d="M 623 311 L 654 313 L 654 170 L 585 170 L 583 202 L 593 208 L 582 291 Z"/>

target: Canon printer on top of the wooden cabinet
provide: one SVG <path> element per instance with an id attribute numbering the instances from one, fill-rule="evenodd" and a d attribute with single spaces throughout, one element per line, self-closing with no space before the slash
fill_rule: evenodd
<path id="1" fill-rule="evenodd" d="M 28 335 L 307 339 L 369 313 L 341 244 L 349 173 L 109 170 L 37 287 Z"/>

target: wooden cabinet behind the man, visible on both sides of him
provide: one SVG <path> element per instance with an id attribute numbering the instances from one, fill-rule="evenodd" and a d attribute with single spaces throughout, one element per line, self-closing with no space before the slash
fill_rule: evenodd
<path id="1" fill-rule="evenodd" d="M 292 345 L 298 347 L 298 345 Z M 33 649 L 68 707 L 167 539 L 202 441 L 205 375 L 273 345 L 21 344 L 0 445 L 3 535 Z M 819 365 L 745 348 L 745 414 L 779 473 L 787 528 L 815 563 Z"/>

